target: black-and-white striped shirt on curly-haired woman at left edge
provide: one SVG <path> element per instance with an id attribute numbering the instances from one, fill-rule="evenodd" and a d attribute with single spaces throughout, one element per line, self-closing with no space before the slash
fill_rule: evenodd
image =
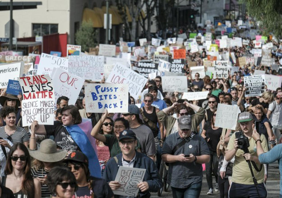
<path id="1" fill-rule="evenodd" d="M 10 140 L 13 144 L 23 143 L 30 139 L 30 133 L 26 132 L 26 130 L 22 127 L 16 127 L 15 132 L 12 135 L 8 135 L 5 132 L 5 126 L 0 127 L 0 137 Z"/>

